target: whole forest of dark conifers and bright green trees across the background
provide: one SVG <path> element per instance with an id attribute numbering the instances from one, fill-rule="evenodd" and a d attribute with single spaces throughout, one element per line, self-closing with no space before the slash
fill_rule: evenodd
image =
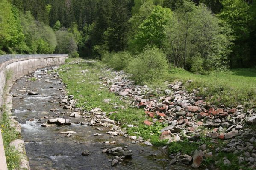
<path id="1" fill-rule="evenodd" d="M 116 69 L 147 59 L 165 68 L 167 59 L 197 74 L 256 64 L 253 0 L 0 0 L 0 6 L 0 54 L 68 53 Z"/>

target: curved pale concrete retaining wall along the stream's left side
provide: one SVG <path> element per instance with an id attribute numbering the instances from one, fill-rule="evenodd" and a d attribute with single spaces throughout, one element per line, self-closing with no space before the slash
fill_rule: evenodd
<path id="1" fill-rule="evenodd" d="M 1 56 L 0 56 L 1 57 Z M 0 108 L 6 101 L 6 94 L 8 93 L 8 86 L 12 85 L 16 79 L 28 74 L 29 71 L 37 68 L 43 68 L 52 65 L 64 64 L 68 55 L 60 57 L 49 57 L 47 55 L 41 55 L 38 57 L 12 59 L 7 62 L 0 63 Z M 9 78 L 8 81 L 6 79 Z M 1 117 L 0 111 L 0 117 Z M 7 170 L 6 158 L 3 148 L 3 140 L 0 129 L 0 170 Z"/>

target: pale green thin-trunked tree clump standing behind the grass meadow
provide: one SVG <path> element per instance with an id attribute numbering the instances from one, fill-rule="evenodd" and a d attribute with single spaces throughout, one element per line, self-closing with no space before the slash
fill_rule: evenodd
<path id="1" fill-rule="evenodd" d="M 184 2 L 167 28 L 165 51 L 175 67 L 196 73 L 222 70 L 232 45 L 231 30 L 204 5 Z M 185 42 L 185 43 L 184 43 Z"/>

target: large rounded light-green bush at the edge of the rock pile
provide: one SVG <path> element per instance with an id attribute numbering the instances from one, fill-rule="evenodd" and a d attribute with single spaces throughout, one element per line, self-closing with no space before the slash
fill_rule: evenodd
<path id="1" fill-rule="evenodd" d="M 161 79 L 168 69 L 166 55 L 158 48 L 145 48 L 129 63 L 127 71 L 136 83 Z"/>

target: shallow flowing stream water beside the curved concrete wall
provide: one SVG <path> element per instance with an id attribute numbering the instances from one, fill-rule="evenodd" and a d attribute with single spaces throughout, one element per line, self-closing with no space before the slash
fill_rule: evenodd
<path id="1" fill-rule="evenodd" d="M 168 157 L 159 148 L 131 144 L 131 140 L 123 136 L 110 135 L 100 131 L 102 136 L 93 136 L 99 133 L 96 127 L 71 124 L 69 126 L 41 127 L 46 122 L 44 116 L 59 116 L 70 119 L 71 122 L 84 118 L 70 118 L 71 110 L 62 109 L 59 105 L 63 96 L 58 88 L 63 88 L 58 79 L 50 79 L 53 75 L 47 74 L 51 68 L 42 68 L 35 73 L 17 80 L 12 88 L 13 94 L 18 94 L 13 100 L 13 116 L 18 116 L 21 123 L 21 137 L 25 141 L 26 154 L 29 158 L 31 170 L 185 170 L 190 169 L 182 165 L 169 165 Z M 36 81 L 27 81 L 30 77 L 37 77 Z M 50 79 L 52 82 L 44 82 Z M 26 92 L 24 92 L 26 90 Z M 29 96 L 27 90 L 37 91 L 39 95 Z M 54 102 L 48 102 L 48 101 Z M 59 111 L 50 112 L 51 108 Z M 68 113 L 69 112 L 69 113 Z M 72 137 L 59 134 L 64 131 L 75 131 Z M 116 144 L 106 144 L 104 141 L 115 141 Z M 115 167 L 111 166 L 112 155 L 101 153 L 103 147 L 128 146 L 133 156 L 124 159 Z M 82 156 L 82 151 L 90 150 L 91 156 Z M 152 156 L 157 154 L 157 156 Z"/>

